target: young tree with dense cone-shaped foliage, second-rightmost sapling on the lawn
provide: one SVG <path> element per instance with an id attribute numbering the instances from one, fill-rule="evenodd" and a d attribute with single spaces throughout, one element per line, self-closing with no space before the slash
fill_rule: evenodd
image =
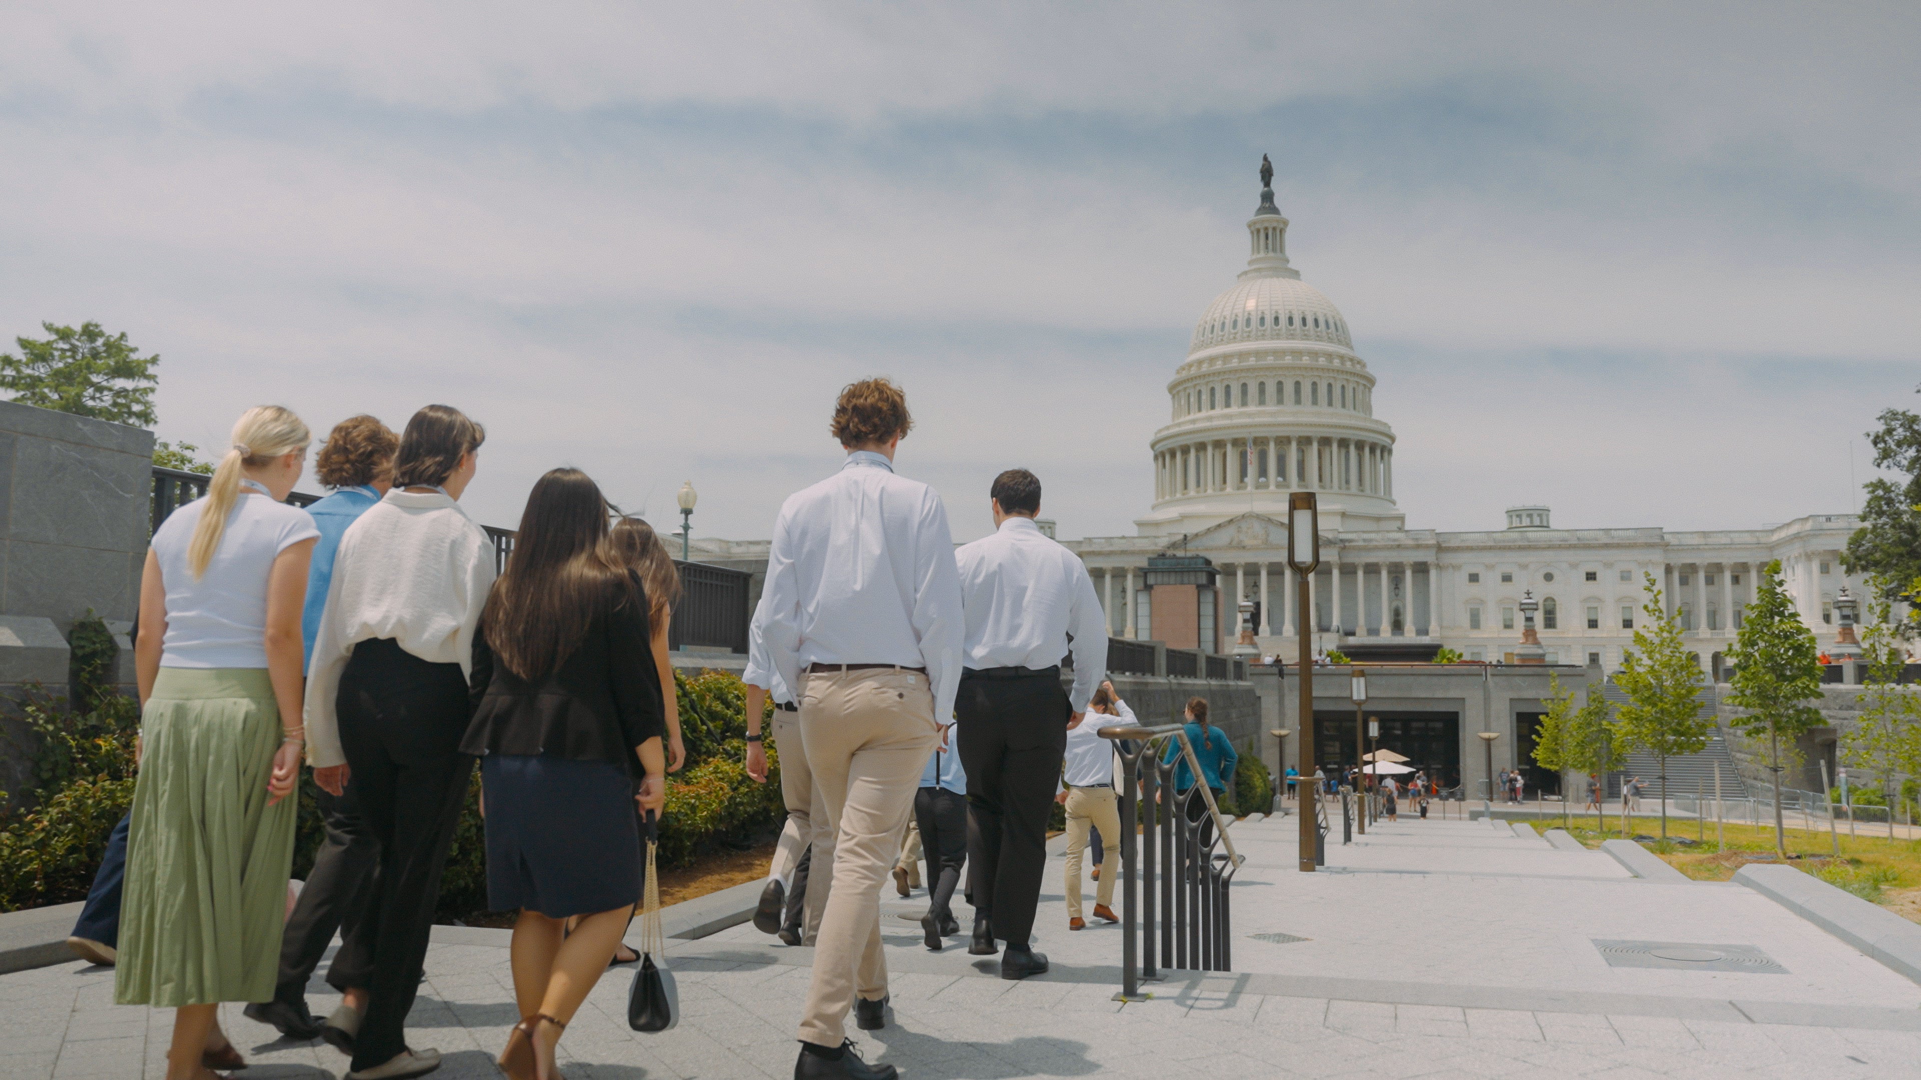
<path id="1" fill-rule="evenodd" d="M 1781 738 L 1792 744 L 1819 726 L 1821 713 L 1808 701 L 1821 698 L 1821 661 L 1813 632 L 1802 623 L 1794 601 L 1781 588 L 1781 559 L 1762 567 L 1754 580 L 1754 603 L 1740 623 L 1735 648 L 1733 690 L 1727 703 L 1746 709 L 1740 730 L 1750 738 L 1767 736 L 1767 771 L 1775 782 L 1775 853 L 1787 859 L 1787 826 L 1781 821 Z"/>

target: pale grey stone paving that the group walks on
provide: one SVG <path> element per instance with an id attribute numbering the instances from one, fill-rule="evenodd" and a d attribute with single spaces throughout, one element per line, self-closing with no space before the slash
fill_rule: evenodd
<path id="1" fill-rule="evenodd" d="M 911 1080 L 1012 1076 L 1917 1076 L 1921 986 L 1740 884 L 1635 878 L 1602 851 L 1508 824 L 1381 824 L 1295 871 L 1295 819 L 1245 821 L 1231 974 L 1151 984 L 1120 1005 L 1120 930 L 1066 930 L 1060 842 L 1035 926 L 1047 976 L 920 944 L 924 899 L 884 896 L 893 1011 L 859 1036 Z M 1091 897 L 1089 897 L 1091 903 Z M 962 924 L 968 922 L 966 913 Z M 1254 934 L 1304 938 L 1268 944 Z M 1594 944 L 1754 945 L 1773 969 L 1610 967 Z M 440 1076 L 498 1076 L 515 1020 L 507 934 L 442 928 L 411 1040 Z M 786 1078 L 811 949 L 740 924 L 670 947 L 676 1030 L 626 1028 L 615 969 L 561 1043 L 567 1076 Z M 315 1013 L 336 1003 L 315 980 Z M 169 1011 L 113 1005 L 113 972 L 67 963 L 0 976 L 0 1078 L 163 1074 Z M 340 1076 L 325 1043 L 290 1043 L 223 1007 L 246 1078 Z"/>

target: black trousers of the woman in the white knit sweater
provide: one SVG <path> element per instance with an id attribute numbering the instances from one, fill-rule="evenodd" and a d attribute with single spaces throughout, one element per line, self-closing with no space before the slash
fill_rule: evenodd
<path id="1" fill-rule="evenodd" d="M 353 1070 L 361 1070 L 407 1049 L 403 1028 L 440 903 L 440 872 L 474 769 L 459 751 L 473 709 L 461 665 L 426 663 L 384 638 L 353 646 L 336 711 L 353 798 L 380 844 L 380 869 L 350 938 L 359 947 L 348 969 L 373 970 L 353 1040 Z"/>

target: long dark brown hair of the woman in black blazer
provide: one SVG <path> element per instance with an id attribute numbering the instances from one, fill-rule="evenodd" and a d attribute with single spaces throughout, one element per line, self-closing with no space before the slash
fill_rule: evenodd
<path id="1" fill-rule="evenodd" d="M 567 663 L 596 615 L 640 601 L 632 575 L 607 550 L 599 484 L 580 469 L 553 469 L 526 496 L 513 557 L 480 625 L 507 671 L 538 680 Z"/>

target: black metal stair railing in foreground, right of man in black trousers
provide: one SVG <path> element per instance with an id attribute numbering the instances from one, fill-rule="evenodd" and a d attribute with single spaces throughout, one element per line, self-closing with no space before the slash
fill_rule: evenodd
<path id="1" fill-rule="evenodd" d="M 1233 969 L 1228 886 L 1241 855 L 1206 784 L 1174 794 L 1183 759 L 1189 776 L 1201 776 L 1181 724 L 1106 726 L 1101 736 L 1116 740 L 1126 780 L 1118 838 L 1122 986 L 1114 999 L 1145 1001 L 1141 982 L 1158 980 L 1162 970 Z M 1178 753 L 1162 761 L 1170 742 Z"/>

